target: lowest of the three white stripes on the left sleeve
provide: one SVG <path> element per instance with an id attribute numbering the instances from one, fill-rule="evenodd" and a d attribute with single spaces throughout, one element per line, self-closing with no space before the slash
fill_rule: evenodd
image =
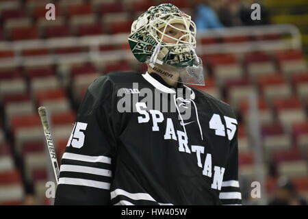
<path id="1" fill-rule="evenodd" d="M 59 179 L 59 184 L 84 185 L 84 186 L 99 188 L 103 190 L 110 190 L 110 183 L 104 183 L 104 182 L 94 181 L 94 180 L 89 180 L 89 179 L 61 177 Z"/>

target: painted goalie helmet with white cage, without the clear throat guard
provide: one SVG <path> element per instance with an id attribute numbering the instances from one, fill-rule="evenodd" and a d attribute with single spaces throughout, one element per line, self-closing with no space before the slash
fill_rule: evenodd
<path id="1" fill-rule="evenodd" d="M 181 31 L 183 36 L 175 38 L 166 34 L 168 27 Z M 166 38 L 173 42 L 164 42 Z M 196 25 L 188 14 L 170 3 L 152 6 L 133 22 L 129 46 L 139 62 L 149 61 L 156 47 L 159 47 L 158 62 L 172 66 L 192 66 L 198 62 L 194 51 Z"/>

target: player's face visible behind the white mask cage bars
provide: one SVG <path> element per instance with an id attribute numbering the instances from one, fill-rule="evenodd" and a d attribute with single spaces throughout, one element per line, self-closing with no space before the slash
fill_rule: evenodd
<path id="1" fill-rule="evenodd" d="M 166 42 L 166 43 L 177 43 L 177 40 L 175 40 L 174 38 L 180 39 L 180 40 L 183 40 L 183 41 L 187 41 L 186 36 L 184 36 L 185 35 L 185 26 L 181 23 L 174 23 L 172 25 L 177 27 L 178 29 L 175 29 L 174 27 L 168 26 L 168 27 L 166 27 L 165 34 L 164 34 L 163 38 L 162 38 L 162 34 L 160 34 L 159 32 L 157 33 L 157 36 L 159 36 L 159 38 L 162 38 L 162 41 Z M 164 32 L 164 28 L 165 27 L 162 27 L 161 29 L 159 29 L 159 31 Z M 183 31 L 181 31 L 179 29 L 183 29 Z M 172 38 L 170 38 L 169 36 L 172 37 Z"/>

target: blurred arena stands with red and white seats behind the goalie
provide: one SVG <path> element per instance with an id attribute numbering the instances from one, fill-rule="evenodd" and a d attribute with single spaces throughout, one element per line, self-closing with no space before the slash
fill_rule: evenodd
<path id="1" fill-rule="evenodd" d="M 60 162 L 87 86 L 111 71 L 145 72 L 127 43 L 134 18 L 174 3 L 202 21 L 203 2 L 223 27 L 209 19 L 198 29 L 198 88 L 237 113 L 243 204 L 268 205 L 292 188 L 308 201 L 308 1 L 0 0 L 0 205 L 53 203 L 38 107 L 47 107 Z M 251 19 L 253 3 L 261 20 Z"/>

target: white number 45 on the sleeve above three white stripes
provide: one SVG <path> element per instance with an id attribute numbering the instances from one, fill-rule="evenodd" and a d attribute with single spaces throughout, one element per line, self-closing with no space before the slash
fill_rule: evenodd
<path id="1" fill-rule="evenodd" d="M 87 128 L 87 123 L 75 123 L 72 133 L 70 134 L 70 139 L 67 142 L 66 146 L 72 144 L 73 148 L 80 149 L 81 146 L 84 146 L 84 130 Z"/>

